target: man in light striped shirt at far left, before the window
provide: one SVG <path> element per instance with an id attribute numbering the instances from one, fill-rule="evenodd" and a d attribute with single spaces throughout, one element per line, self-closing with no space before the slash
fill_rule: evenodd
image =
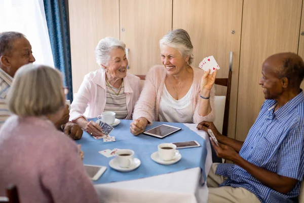
<path id="1" fill-rule="evenodd" d="M 10 116 L 6 96 L 15 73 L 22 65 L 34 61 L 31 45 L 22 33 L 15 31 L 0 33 L 0 127 Z M 74 140 L 79 140 L 83 134 L 82 129 L 78 125 L 68 122 L 68 119 L 69 110 L 67 108 L 56 127 L 63 130 Z"/>

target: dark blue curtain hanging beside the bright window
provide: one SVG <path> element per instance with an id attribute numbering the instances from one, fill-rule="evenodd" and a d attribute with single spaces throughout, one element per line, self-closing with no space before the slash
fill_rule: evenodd
<path id="1" fill-rule="evenodd" d="M 54 64 L 63 74 L 63 83 L 69 88 L 67 99 L 72 101 L 72 71 L 68 24 L 64 0 L 44 0 Z"/>

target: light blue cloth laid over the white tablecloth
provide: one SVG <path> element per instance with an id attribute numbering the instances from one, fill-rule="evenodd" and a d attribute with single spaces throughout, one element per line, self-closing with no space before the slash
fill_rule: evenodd
<path id="1" fill-rule="evenodd" d="M 91 120 L 96 121 L 97 118 Z M 156 127 L 160 124 L 168 124 L 181 127 L 182 129 L 163 139 L 147 136 L 145 134 L 133 136 L 130 132 L 131 122 L 132 120 L 121 120 L 121 123 L 111 131 L 110 136 L 114 136 L 116 142 L 103 143 L 103 139 L 95 140 L 85 131 L 82 139 L 76 141 L 77 144 L 82 145 L 82 150 L 85 154 L 84 164 L 107 166 L 105 173 L 97 181 L 94 181 L 94 184 L 134 180 L 182 171 L 194 167 L 201 167 L 202 175 L 204 176 L 204 180 L 206 180 L 205 160 L 207 157 L 207 147 L 205 140 L 197 133 L 182 123 L 154 122 L 152 125 L 147 126 L 146 129 Z M 199 142 L 201 147 L 179 149 L 182 158 L 175 164 L 161 165 L 150 158 L 151 154 L 158 150 L 158 145 L 161 143 L 193 140 Z M 140 166 L 132 172 L 118 172 L 113 170 L 108 163 L 111 159 L 115 158 L 115 156 L 107 158 L 98 152 L 105 149 L 112 150 L 114 148 L 132 149 L 135 152 L 134 157 L 141 161 Z"/>

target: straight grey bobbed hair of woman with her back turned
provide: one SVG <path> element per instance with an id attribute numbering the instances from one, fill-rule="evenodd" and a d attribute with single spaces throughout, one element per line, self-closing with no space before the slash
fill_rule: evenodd
<path id="1" fill-rule="evenodd" d="M 9 109 L 20 117 L 54 114 L 65 105 L 62 84 L 61 73 L 52 67 L 23 65 L 9 91 Z"/>

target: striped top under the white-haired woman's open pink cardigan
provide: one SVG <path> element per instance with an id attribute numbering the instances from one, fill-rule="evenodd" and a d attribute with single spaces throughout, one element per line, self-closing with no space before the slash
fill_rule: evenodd
<path id="1" fill-rule="evenodd" d="M 115 92 L 119 92 L 120 88 L 111 86 Z M 112 111 L 116 113 L 117 119 L 124 119 L 128 115 L 126 93 L 124 93 L 124 84 L 119 95 L 116 95 L 108 86 L 106 86 L 106 103 L 104 111 Z"/>

